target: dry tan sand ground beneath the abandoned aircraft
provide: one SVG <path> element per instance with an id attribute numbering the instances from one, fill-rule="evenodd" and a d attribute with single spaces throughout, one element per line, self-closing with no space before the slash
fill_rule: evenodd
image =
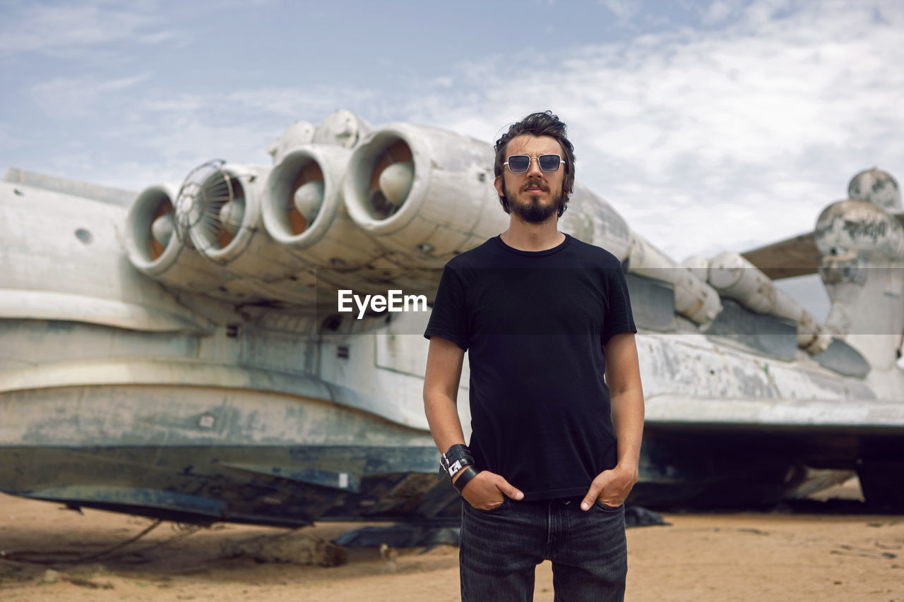
<path id="1" fill-rule="evenodd" d="M 854 483 L 853 486 L 856 486 Z M 850 485 L 847 488 L 850 493 Z M 671 526 L 627 531 L 630 602 L 819 600 L 904 602 L 904 514 L 665 514 Z M 151 521 L 0 494 L 0 551 L 48 556 L 99 550 Z M 320 523 L 304 530 L 327 540 L 361 526 Z M 285 530 L 215 525 L 147 551 L 77 566 L 0 559 L 0 600 L 335 600 L 458 599 L 457 548 L 400 550 L 391 572 L 372 548 L 348 550 L 334 568 L 222 557 L 224 543 Z M 164 523 L 143 548 L 176 534 Z M 535 600 L 552 600 L 551 569 L 537 569 Z"/>

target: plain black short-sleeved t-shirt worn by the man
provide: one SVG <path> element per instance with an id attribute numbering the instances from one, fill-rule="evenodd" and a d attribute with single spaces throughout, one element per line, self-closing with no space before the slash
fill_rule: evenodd
<path id="1" fill-rule="evenodd" d="M 584 495 L 616 466 L 603 344 L 626 332 L 614 255 L 568 235 L 543 251 L 497 236 L 446 264 L 424 335 L 468 351 L 477 468 L 541 500 Z"/>

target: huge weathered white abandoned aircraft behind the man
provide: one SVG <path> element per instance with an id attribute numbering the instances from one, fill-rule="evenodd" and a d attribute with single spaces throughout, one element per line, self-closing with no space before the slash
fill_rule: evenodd
<path id="1" fill-rule="evenodd" d="M 492 147 L 338 111 L 268 151 L 138 194 L 6 172 L 0 490 L 184 522 L 457 517 L 421 334 L 439 268 L 506 227 Z M 776 503 L 856 471 L 904 504 L 900 195 L 870 170 L 848 196 L 812 233 L 678 263 L 576 185 L 560 227 L 622 260 L 640 329 L 629 503 Z M 815 272 L 824 324 L 771 279 Z"/>

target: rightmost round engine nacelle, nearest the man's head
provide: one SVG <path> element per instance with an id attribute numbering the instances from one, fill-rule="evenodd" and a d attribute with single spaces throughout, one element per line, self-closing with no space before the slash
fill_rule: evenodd
<path id="1" fill-rule="evenodd" d="M 395 124 L 355 149 L 345 176 L 353 221 L 400 266 L 439 268 L 505 230 L 493 149 L 435 127 Z"/>

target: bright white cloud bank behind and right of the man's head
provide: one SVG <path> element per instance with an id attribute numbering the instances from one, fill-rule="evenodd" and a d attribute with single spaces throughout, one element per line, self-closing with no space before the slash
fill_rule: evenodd
<path id="1" fill-rule="evenodd" d="M 904 176 L 899 6 L 716 3 L 711 19 L 737 13 L 720 31 L 587 46 L 530 71 L 485 61 L 400 112 L 491 140 L 553 108 L 579 179 L 636 230 L 676 259 L 744 249 L 811 230 L 863 168 Z"/>

